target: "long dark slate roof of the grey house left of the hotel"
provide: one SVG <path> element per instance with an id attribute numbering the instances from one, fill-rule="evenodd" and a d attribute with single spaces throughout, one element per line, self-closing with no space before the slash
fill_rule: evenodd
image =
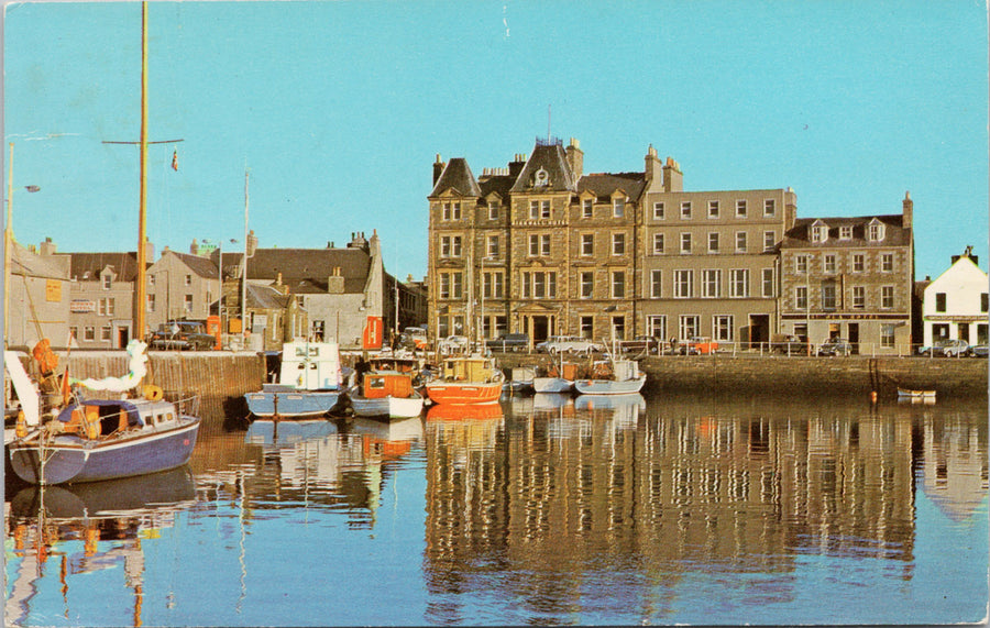
<path id="1" fill-rule="evenodd" d="M 282 283 L 293 294 L 321 294 L 334 267 L 344 277 L 344 293 L 364 293 L 371 255 L 359 247 L 257 249 L 248 258 L 248 278 L 274 282 L 282 273 Z"/>

